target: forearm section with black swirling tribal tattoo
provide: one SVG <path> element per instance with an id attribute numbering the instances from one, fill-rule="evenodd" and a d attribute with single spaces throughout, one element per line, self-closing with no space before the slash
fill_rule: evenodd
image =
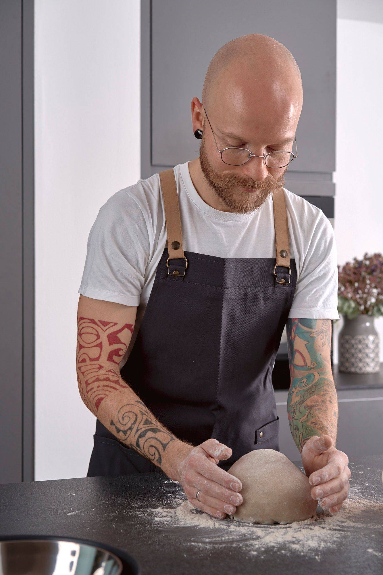
<path id="1" fill-rule="evenodd" d="M 158 466 L 162 464 L 168 444 L 177 439 L 155 419 L 142 401 L 122 405 L 110 425 L 127 447 L 135 449 Z"/>

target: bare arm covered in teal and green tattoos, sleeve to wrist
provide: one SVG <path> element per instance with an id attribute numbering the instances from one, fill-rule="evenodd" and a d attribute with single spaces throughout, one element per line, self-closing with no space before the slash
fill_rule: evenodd
<path id="1" fill-rule="evenodd" d="M 336 444 L 338 400 L 331 373 L 330 319 L 289 318 L 288 417 L 298 449 L 312 435 L 330 435 Z"/>

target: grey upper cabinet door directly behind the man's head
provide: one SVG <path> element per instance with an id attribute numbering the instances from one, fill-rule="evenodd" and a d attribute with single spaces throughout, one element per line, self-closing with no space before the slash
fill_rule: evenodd
<path id="1" fill-rule="evenodd" d="M 312 195 L 312 180 L 315 194 L 321 195 L 321 189 L 332 189 L 331 178 L 318 180 L 335 170 L 336 0 L 152 2 L 151 165 L 171 167 L 198 157 L 191 99 L 201 100 L 205 73 L 217 50 L 248 33 L 278 40 L 300 67 L 304 104 L 297 128 L 299 158 L 289 172 L 297 173 L 298 181 L 299 173 L 305 173 L 304 193 Z M 308 172 L 315 174 L 311 178 Z"/>

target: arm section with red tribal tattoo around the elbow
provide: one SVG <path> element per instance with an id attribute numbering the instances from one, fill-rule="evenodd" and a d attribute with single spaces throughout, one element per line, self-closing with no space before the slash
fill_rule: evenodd
<path id="1" fill-rule="evenodd" d="M 127 345 L 126 330 L 133 333 L 132 324 L 117 325 L 113 321 L 78 318 L 77 383 L 81 398 L 94 415 L 105 397 L 127 388 L 120 378 L 119 365 Z"/>

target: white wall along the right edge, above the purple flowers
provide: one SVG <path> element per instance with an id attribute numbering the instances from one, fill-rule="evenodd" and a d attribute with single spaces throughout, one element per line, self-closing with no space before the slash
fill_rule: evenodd
<path id="1" fill-rule="evenodd" d="M 365 252 L 383 252 L 382 162 L 374 152 L 382 147 L 383 133 L 383 2 L 342 0 L 338 7 L 334 229 L 343 264 Z M 343 319 L 334 327 L 335 363 L 342 325 Z M 383 318 L 375 325 L 383 361 Z"/>

